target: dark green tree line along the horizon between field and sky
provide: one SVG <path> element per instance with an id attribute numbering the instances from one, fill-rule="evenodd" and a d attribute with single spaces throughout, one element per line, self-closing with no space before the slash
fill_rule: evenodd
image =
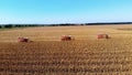
<path id="1" fill-rule="evenodd" d="M 67 25 L 108 25 L 108 24 L 132 24 L 132 22 L 103 22 L 103 23 L 61 23 L 61 24 L 0 24 L 0 29 L 28 28 L 28 26 L 67 26 Z"/>

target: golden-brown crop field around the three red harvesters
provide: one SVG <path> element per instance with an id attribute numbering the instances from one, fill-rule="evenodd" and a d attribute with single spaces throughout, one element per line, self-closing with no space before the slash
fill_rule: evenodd
<path id="1" fill-rule="evenodd" d="M 0 31 L 1 75 L 131 75 L 132 25 L 44 26 Z M 107 33 L 109 40 L 98 40 Z M 75 41 L 63 42 L 69 34 Z M 25 36 L 30 43 L 19 43 Z"/>

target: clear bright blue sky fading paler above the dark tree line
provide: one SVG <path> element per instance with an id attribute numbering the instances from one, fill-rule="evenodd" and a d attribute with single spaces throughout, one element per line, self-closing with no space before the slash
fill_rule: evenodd
<path id="1" fill-rule="evenodd" d="M 132 22 L 132 0 L 0 0 L 0 24 Z"/>

